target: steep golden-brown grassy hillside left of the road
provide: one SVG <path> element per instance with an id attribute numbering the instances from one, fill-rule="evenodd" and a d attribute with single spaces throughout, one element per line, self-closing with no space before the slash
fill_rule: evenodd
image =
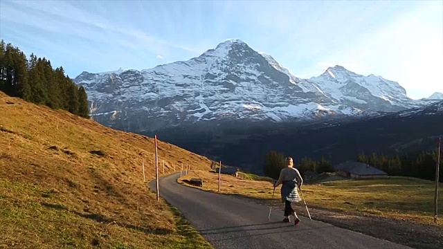
<path id="1" fill-rule="evenodd" d="M 161 139 L 161 138 L 159 138 Z M 159 141 L 159 173 L 210 160 Z M 154 139 L 0 92 L 0 248 L 208 248 L 143 182 Z M 177 167 L 179 169 L 179 167 Z"/>

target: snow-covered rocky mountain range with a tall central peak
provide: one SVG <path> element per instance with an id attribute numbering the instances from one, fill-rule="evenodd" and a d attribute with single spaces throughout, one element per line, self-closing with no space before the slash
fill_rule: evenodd
<path id="1" fill-rule="evenodd" d="M 91 116 L 117 129 L 147 131 L 210 120 L 306 120 L 417 107 L 397 83 L 343 66 L 300 79 L 270 55 L 230 39 L 199 57 L 142 71 L 83 72 Z"/>

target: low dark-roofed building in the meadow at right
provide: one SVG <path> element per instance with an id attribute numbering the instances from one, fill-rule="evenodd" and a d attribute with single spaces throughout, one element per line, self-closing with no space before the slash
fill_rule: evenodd
<path id="1" fill-rule="evenodd" d="M 335 165 L 334 170 L 337 174 L 350 178 L 378 178 L 388 176 L 388 173 L 383 172 L 376 167 L 353 160 L 348 160 L 345 163 Z"/>

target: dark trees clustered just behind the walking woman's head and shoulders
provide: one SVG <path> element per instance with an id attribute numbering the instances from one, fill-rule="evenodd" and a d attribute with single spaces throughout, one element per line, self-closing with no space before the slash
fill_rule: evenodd
<path id="1" fill-rule="evenodd" d="M 280 170 L 287 167 L 284 158 L 286 158 L 284 154 L 277 151 L 270 151 L 264 160 L 264 174 L 271 178 L 278 179 L 280 176 Z M 321 156 L 320 160 L 312 160 L 312 158 L 305 156 L 304 158 L 301 158 L 300 163 L 296 163 L 296 158 L 293 158 L 293 162 L 293 167 L 296 167 L 302 176 L 308 171 L 317 174 L 334 172 L 334 166 L 330 160 L 325 158 L 325 156 Z"/>

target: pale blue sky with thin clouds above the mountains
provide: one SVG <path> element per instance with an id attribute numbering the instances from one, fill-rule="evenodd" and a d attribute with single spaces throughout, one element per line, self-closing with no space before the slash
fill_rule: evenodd
<path id="1" fill-rule="evenodd" d="M 0 39 L 70 77 L 186 60 L 232 38 L 297 77 L 339 64 L 410 98 L 443 92 L 443 1 L 0 1 Z"/>

